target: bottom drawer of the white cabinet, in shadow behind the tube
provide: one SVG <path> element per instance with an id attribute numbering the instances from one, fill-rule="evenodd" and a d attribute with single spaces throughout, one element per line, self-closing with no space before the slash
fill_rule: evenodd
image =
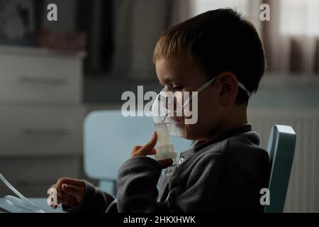
<path id="1" fill-rule="evenodd" d="M 81 169 L 80 157 L 0 158 L 1 174 L 25 196 L 45 197 L 47 189 L 60 177 L 81 178 Z M 0 197 L 6 194 L 12 192 L 1 186 Z"/>

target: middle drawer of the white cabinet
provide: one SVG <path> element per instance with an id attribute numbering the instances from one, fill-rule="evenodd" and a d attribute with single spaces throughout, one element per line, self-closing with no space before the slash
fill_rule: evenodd
<path id="1" fill-rule="evenodd" d="M 0 106 L 0 155 L 81 154 L 83 120 L 83 106 Z"/>

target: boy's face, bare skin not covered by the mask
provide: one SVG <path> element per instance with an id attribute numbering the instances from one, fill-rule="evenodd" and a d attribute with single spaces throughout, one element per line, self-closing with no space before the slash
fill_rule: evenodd
<path id="1" fill-rule="evenodd" d="M 196 62 L 190 60 L 186 50 L 170 57 L 162 57 L 156 62 L 156 72 L 163 86 L 174 91 L 194 92 L 211 77 Z M 198 93 L 198 121 L 195 124 L 181 124 L 184 135 L 191 140 L 208 139 L 215 134 L 220 123 L 227 119 L 230 105 L 220 96 L 223 84 L 213 82 Z"/>

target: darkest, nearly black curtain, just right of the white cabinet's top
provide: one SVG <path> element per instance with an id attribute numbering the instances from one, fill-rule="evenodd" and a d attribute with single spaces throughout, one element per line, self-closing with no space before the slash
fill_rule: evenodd
<path id="1" fill-rule="evenodd" d="M 86 74 L 106 74 L 113 57 L 113 0 L 77 0 L 76 6 L 76 30 L 86 34 Z"/>

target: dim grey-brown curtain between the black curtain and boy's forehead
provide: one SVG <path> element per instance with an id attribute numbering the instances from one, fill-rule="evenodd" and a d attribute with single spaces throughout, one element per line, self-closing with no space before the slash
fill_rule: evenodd
<path id="1" fill-rule="evenodd" d="M 154 79 L 152 54 L 159 35 L 169 26 L 170 0 L 120 0 L 115 2 L 116 77 Z"/>

